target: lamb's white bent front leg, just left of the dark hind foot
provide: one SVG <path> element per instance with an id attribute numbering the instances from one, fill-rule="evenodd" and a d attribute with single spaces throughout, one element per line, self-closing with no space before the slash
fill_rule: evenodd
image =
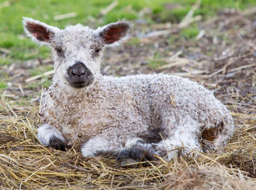
<path id="1" fill-rule="evenodd" d="M 115 155 L 117 150 L 111 146 L 110 141 L 102 136 L 94 136 L 89 139 L 82 147 L 83 156 L 98 156 L 98 155 Z"/>

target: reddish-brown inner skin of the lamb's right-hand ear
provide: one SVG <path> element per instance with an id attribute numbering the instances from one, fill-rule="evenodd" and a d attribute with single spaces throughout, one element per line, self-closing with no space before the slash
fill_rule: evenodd
<path id="1" fill-rule="evenodd" d="M 111 44 L 120 40 L 121 37 L 126 35 L 128 29 L 129 26 L 126 24 L 111 26 L 106 30 L 106 35 L 104 35 L 106 44 Z"/>

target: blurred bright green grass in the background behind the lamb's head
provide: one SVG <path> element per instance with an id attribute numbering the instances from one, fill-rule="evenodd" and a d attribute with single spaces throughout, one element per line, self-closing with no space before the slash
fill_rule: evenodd
<path id="1" fill-rule="evenodd" d="M 3 2 L 5 2 L 5 0 L 0 0 L 0 5 Z M 59 28 L 64 28 L 66 25 L 74 25 L 76 23 L 82 23 L 83 25 L 90 24 L 97 27 L 122 18 L 134 20 L 138 17 L 140 10 L 148 7 L 152 9 L 153 13 L 152 15 L 145 15 L 144 19 L 150 22 L 179 22 L 196 1 L 183 0 L 177 5 L 177 1 L 175 0 L 119 0 L 118 5 L 103 17 L 101 17 L 100 10 L 108 7 L 112 3 L 112 0 L 9 0 L 9 2 L 10 5 L 8 7 L 0 8 L 0 47 L 10 50 L 11 53 L 5 58 L 0 56 L 0 65 L 10 64 L 11 60 L 15 59 L 25 61 L 34 58 L 44 59 L 50 56 L 49 47 L 38 47 L 37 44 L 32 42 L 28 37 L 25 37 L 22 26 L 23 16 L 32 17 Z M 254 0 L 202 0 L 201 7 L 195 12 L 195 15 L 201 14 L 204 16 L 204 19 L 206 19 L 224 8 L 233 7 L 244 9 L 254 5 L 256 5 Z M 170 7 L 174 7 L 174 9 L 170 9 Z M 77 16 L 75 18 L 58 21 L 53 19 L 56 15 L 70 12 L 77 13 Z M 93 16 L 98 21 L 90 23 L 90 20 L 87 19 L 89 15 Z M 196 30 L 194 29 L 184 32 L 185 37 L 188 38 L 195 34 Z M 136 43 L 136 40 L 133 42 Z"/>

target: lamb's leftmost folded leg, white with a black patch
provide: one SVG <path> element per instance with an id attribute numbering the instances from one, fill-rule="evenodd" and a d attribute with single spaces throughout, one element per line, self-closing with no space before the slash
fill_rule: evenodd
<path id="1" fill-rule="evenodd" d="M 67 144 L 60 131 L 49 124 L 40 126 L 37 130 L 37 137 L 47 147 L 65 151 Z"/>

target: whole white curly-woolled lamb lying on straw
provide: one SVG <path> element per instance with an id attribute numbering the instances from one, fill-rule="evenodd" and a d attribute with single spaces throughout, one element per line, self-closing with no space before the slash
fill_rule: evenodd
<path id="1" fill-rule="evenodd" d="M 100 74 L 103 50 L 127 39 L 131 22 L 96 30 L 80 24 L 60 30 L 31 18 L 23 25 L 28 36 L 53 50 L 55 74 L 38 128 L 45 146 L 79 145 L 83 156 L 112 155 L 125 165 L 218 149 L 233 135 L 230 112 L 196 82 L 164 74 Z"/>

